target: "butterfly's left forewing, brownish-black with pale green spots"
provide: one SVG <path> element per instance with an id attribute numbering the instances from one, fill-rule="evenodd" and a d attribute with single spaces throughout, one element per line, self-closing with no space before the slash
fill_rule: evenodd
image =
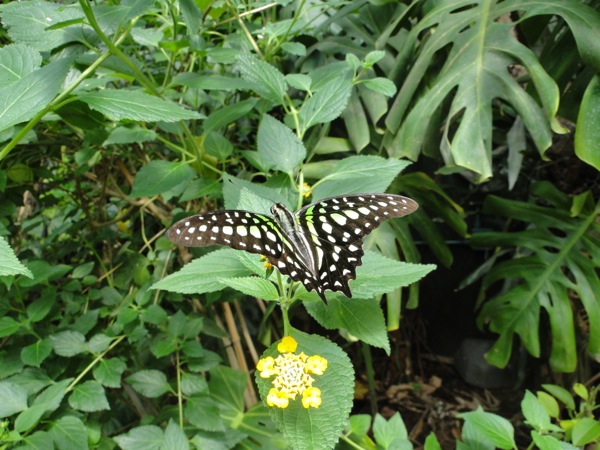
<path id="1" fill-rule="evenodd" d="M 226 245 L 250 253 L 279 258 L 282 232 L 270 217 L 248 211 L 213 211 L 182 219 L 167 230 L 167 238 L 185 247 Z"/>

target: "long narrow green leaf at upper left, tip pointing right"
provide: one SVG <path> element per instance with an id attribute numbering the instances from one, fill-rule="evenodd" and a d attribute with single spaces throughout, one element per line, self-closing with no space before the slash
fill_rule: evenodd
<path id="1" fill-rule="evenodd" d="M 202 114 L 141 91 L 104 89 L 82 94 L 79 99 L 111 120 L 177 122 L 202 119 Z"/>

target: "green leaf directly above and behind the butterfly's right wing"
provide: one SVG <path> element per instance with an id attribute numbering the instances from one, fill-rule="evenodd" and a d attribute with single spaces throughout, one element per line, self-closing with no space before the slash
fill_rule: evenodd
<path id="1" fill-rule="evenodd" d="M 350 156 L 338 162 L 312 191 L 313 201 L 343 194 L 385 192 L 410 163 L 379 156 Z"/>

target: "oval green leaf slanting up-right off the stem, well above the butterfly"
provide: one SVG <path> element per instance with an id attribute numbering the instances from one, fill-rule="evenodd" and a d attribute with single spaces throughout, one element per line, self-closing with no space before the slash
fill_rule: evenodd
<path id="1" fill-rule="evenodd" d="M 349 77 L 339 77 L 322 85 L 302 104 L 298 114 L 301 134 L 313 125 L 337 119 L 346 108 L 351 92 Z"/>

